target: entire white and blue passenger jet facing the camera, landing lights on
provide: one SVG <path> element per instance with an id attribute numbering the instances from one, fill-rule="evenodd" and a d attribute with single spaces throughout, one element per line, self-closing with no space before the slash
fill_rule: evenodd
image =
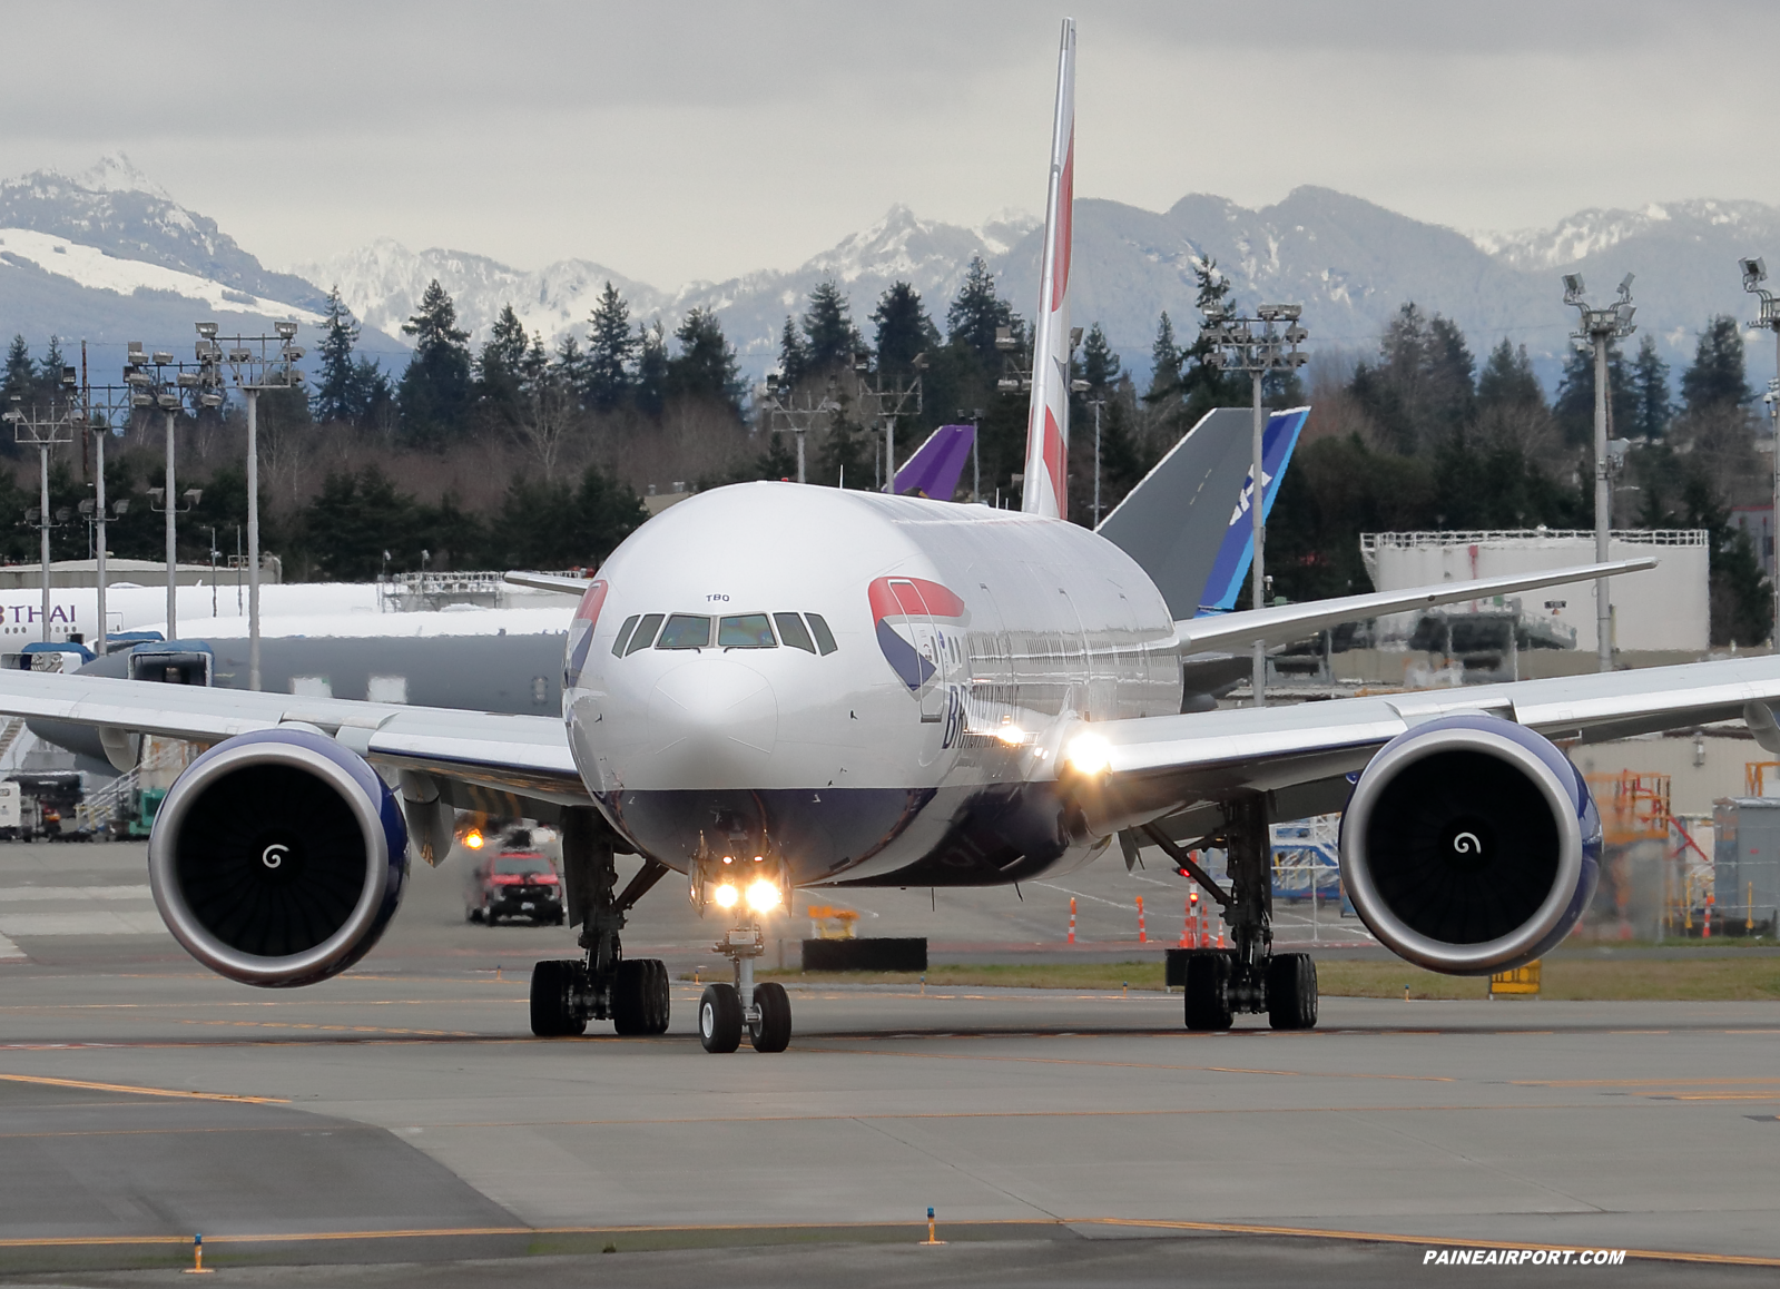
<path id="1" fill-rule="evenodd" d="M 1780 750 L 1780 659 L 1182 712 L 1184 659 L 1207 650 L 1648 561 L 1173 621 L 1129 555 L 1061 518 L 1072 66 L 1066 21 L 1029 447 L 1056 470 L 1027 470 L 1048 493 L 1024 513 L 701 493 L 564 588 L 580 605 L 561 719 L 23 671 L 0 673 L 0 712 L 93 726 L 117 762 L 137 732 L 212 744 L 160 808 L 150 876 L 173 935 L 249 985 L 358 961 L 409 847 L 443 855 L 452 808 L 559 819 L 586 956 L 538 965 L 539 1034 L 666 1029 L 668 974 L 619 933 L 668 872 L 728 924 L 735 983 L 700 1001 L 705 1049 L 746 1033 L 781 1050 L 785 990 L 755 985 L 753 961 L 794 887 L 1011 883 L 1114 837 L 1162 846 L 1225 906 L 1235 947 L 1189 961 L 1189 1027 L 1308 1027 L 1315 969 L 1271 947 L 1266 830 L 1342 805 L 1347 890 L 1383 944 L 1447 972 L 1538 956 L 1581 917 L 1600 853 L 1558 744 L 1741 716 Z M 1196 839 L 1226 847 L 1228 888 L 1177 844 Z M 623 890 L 618 851 L 643 856 Z"/>

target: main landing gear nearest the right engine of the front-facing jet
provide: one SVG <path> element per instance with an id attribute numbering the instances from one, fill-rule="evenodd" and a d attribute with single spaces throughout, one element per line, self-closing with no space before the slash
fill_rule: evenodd
<path id="1" fill-rule="evenodd" d="M 1239 1011 L 1266 1011 L 1274 1029 L 1314 1029 L 1315 960 L 1307 953 L 1273 953 L 1273 846 L 1266 801 L 1246 798 L 1225 807 L 1228 892 L 1159 828 L 1152 824 L 1145 833 L 1223 906 L 1234 942 L 1232 949 L 1196 949 L 1187 956 L 1187 1029 L 1228 1029 Z"/>

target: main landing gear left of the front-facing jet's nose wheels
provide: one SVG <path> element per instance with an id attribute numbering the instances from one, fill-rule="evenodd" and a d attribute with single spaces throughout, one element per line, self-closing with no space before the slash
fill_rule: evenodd
<path id="1" fill-rule="evenodd" d="M 570 926 L 580 926 L 586 958 L 532 967 L 532 1033 L 561 1038 L 586 1033 L 589 1020 L 611 1020 L 619 1034 L 668 1033 L 668 967 L 655 958 L 625 958 L 625 913 L 668 867 L 648 860 L 621 894 L 612 862 L 612 833 L 593 810 L 562 815 L 562 874 Z"/>

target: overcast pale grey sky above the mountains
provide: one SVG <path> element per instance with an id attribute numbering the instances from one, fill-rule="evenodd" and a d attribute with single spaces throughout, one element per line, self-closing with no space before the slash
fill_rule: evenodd
<path id="1" fill-rule="evenodd" d="M 1780 203 L 1780 5 L 18 5 L 0 173 L 125 150 L 272 267 L 388 235 L 660 287 L 789 269 L 895 201 L 1043 207 L 1057 18 L 1077 194 L 1319 183 L 1463 230 Z"/>

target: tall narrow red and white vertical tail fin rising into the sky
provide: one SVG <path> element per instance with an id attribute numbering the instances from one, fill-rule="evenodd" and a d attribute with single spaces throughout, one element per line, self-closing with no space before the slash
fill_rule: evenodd
<path id="1" fill-rule="evenodd" d="M 1057 114 L 1050 132 L 1045 251 L 1038 276 L 1032 402 L 1025 424 L 1025 491 L 1020 509 L 1068 518 L 1070 486 L 1070 221 L 1075 205 L 1075 20 L 1063 20 Z"/>

